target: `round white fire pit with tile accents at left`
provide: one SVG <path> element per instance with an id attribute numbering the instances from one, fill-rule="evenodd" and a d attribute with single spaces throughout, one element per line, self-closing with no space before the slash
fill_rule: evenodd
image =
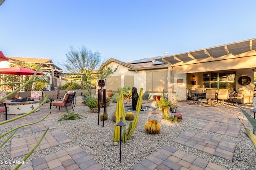
<path id="1" fill-rule="evenodd" d="M 34 110 L 39 106 L 40 100 L 27 101 L 27 102 L 5 102 L 8 115 L 22 115 Z M 38 111 L 38 108 L 36 111 Z"/>

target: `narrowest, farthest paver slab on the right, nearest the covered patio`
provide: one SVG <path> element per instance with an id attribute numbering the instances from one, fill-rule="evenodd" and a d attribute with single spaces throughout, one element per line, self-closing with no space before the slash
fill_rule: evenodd
<path id="1" fill-rule="evenodd" d="M 193 127 L 197 129 L 202 129 L 204 131 L 210 131 L 210 132 L 219 133 L 222 135 L 228 135 L 232 137 L 238 137 L 238 134 L 240 132 L 240 127 L 224 125 L 224 124 L 209 122 L 209 121 L 200 121 Z"/>

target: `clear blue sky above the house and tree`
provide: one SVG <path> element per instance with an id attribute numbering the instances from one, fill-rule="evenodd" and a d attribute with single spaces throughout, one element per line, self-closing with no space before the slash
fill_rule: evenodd
<path id="1" fill-rule="evenodd" d="M 255 0 L 6 0 L 0 51 L 52 59 L 70 45 L 129 62 L 256 37 Z"/>

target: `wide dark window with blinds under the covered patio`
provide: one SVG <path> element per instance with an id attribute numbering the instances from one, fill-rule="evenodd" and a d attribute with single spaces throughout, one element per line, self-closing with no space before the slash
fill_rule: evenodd
<path id="1" fill-rule="evenodd" d="M 235 88 L 236 74 L 234 72 L 204 73 L 204 88 Z"/>

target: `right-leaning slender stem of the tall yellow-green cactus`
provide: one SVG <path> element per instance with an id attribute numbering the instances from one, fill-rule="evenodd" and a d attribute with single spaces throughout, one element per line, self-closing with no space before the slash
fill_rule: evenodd
<path id="1" fill-rule="evenodd" d="M 127 140 L 130 140 L 132 138 L 134 130 L 138 124 L 139 112 L 140 112 L 141 105 L 142 105 L 142 96 L 143 96 L 142 90 L 143 90 L 143 88 L 140 88 L 139 98 L 138 98 L 138 102 L 137 102 L 137 106 L 136 106 L 136 116 L 135 116 L 133 123 L 130 122 L 130 124 L 129 124 L 128 132 L 127 132 Z M 124 142 L 126 142 L 126 141 L 124 141 Z"/>

